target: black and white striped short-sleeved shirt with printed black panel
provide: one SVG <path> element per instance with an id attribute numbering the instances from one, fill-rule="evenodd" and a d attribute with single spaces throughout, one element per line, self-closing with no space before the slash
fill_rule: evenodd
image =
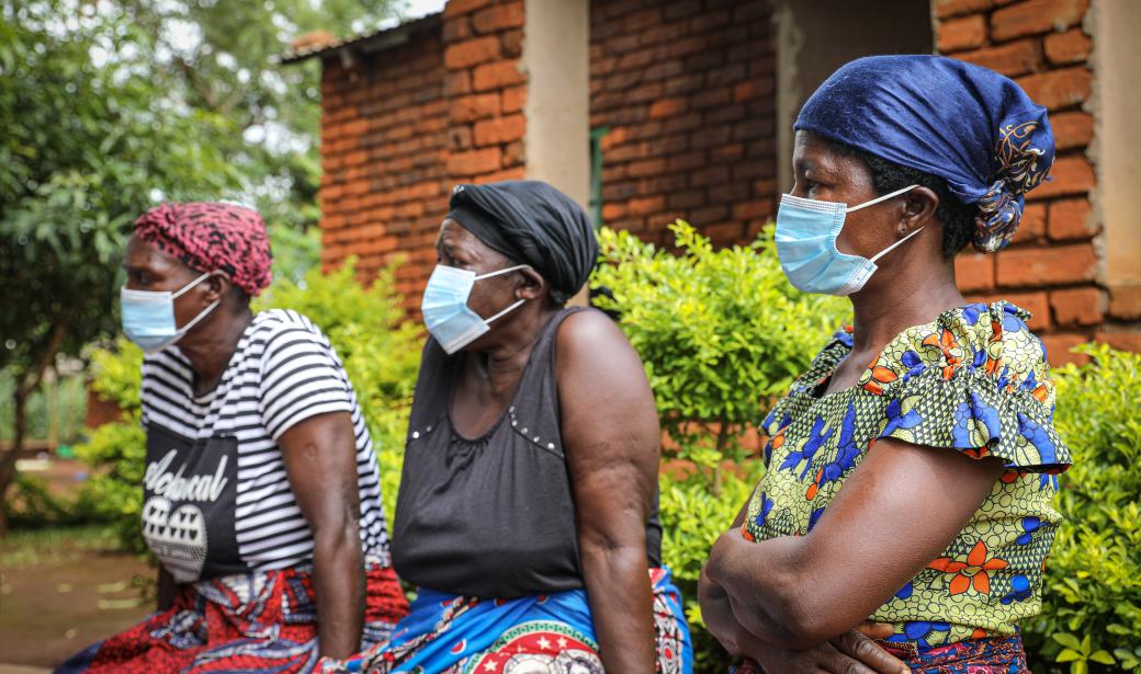
<path id="1" fill-rule="evenodd" d="M 218 385 L 201 397 L 193 387 L 189 360 L 177 348 L 145 358 L 143 527 L 176 580 L 311 560 L 313 535 L 276 440 L 297 423 L 331 412 L 353 419 L 364 554 L 388 563 L 372 440 L 353 384 L 319 328 L 296 311 L 262 311 Z"/>

